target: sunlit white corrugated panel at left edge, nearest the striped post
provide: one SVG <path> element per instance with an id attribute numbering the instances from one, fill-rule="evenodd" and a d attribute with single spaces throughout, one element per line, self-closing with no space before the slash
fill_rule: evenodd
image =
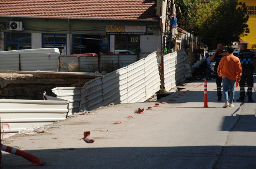
<path id="1" fill-rule="evenodd" d="M 33 125 L 41 127 L 66 119 L 69 101 L 0 99 L 2 138 Z"/>

